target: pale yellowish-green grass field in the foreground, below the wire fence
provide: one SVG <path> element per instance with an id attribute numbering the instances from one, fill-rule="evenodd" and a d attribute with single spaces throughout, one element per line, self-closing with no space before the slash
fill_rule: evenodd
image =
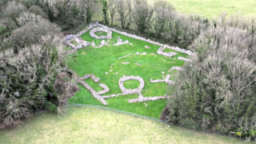
<path id="1" fill-rule="evenodd" d="M 0 143 L 243 143 L 109 110 L 73 107 L 68 111 L 62 118 L 39 114 L 22 126 L 1 130 Z"/>

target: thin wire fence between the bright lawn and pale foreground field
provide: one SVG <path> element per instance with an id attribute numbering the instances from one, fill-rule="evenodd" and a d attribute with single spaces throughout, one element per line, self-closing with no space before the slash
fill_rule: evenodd
<path id="1" fill-rule="evenodd" d="M 150 119 L 151 121 L 155 121 L 155 122 L 161 122 L 161 123 L 165 123 L 165 124 L 168 123 L 168 122 L 162 121 L 161 119 L 158 119 L 158 118 L 152 118 L 152 117 L 148 117 L 146 115 L 135 114 L 135 113 L 131 113 L 131 112 L 128 112 L 128 111 L 118 110 L 118 109 L 114 109 L 114 108 L 106 107 L 106 106 L 89 105 L 89 104 L 78 104 L 78 103 L 68 104 L 68 106 L 70 106 L 70 107 L 72 107 L 72 106 L 73 107 L 96 107 L 96 108 L 100 108 L 100 109 L 103 109 L 103 110 L 110 110 L 110 111 L 118 112 L 118 113 L 121 113 L 121 114 L 132 115 L 134 117 Z"/>

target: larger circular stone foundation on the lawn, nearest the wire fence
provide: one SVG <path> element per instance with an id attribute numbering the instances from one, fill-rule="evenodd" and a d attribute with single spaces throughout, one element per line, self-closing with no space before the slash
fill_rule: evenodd
<path id="1" fill-rule="evenodd" d="M 123 86 L 123 82 L 126 82 L 128 80 L 137 80 L 138 82 L 140 82 L 140 85 L 138 86 L 137 89 L 126 89 L 125 86 Z M 127 76 L 127 77 L 122 77 L 119 79 L 119 87 L 120 90 L 122 90 L 123 94 L 140 94 L 142 89 L 145 86 L 145 82 L 143 80 L 143 78 L 140 78 L 139 76 L 135 77 L 135 76 Z"/>

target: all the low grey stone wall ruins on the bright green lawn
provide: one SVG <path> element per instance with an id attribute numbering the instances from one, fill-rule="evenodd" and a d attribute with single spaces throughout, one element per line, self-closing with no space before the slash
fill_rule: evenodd
<path id="1" fill-rule="evenodd" d="M 79 38 L 79 37 L 82 36 L 82 34 L 85 34 L 89 30 L 90 30 L 90 36 L 92 38 L 102 39 L 102 42 L 101 42 L 100 46 L 96 46 L 94 42 L 86 42 L 82 38 Z M 107 33 L 107 35 L 98 37 L 98 35 L 95 34 L 97 31 L 105 31 Z M 82 30 L 82 31 L 78 32 L 78 34 L 67 35 L 64 38 L 64 42 L 67 46 L 70 46 L 74 50 L 70 50 L 70 52 L 66 52 L 66 54 L 70 54 L 71 52 L 74 53 L 76 50 L 81 49 L 82 47 L 90 46 L 90 45 L 94 46 L 94 48 L 100 48 L 100 47 L 105 46 L 105 45 L 110 46 L 110 44 L 108 44 L 108 42 L 106 42 L 103 39 L 111 39 L 112 38 L 112 31 L 114 31 L 118 34 L 125 35 L 125 36 L 130 37 L 130 38 L 135 38 L 135 39 L 138 39 L 138 40 L 149 42 L 149 43 L 151 43 L 153 45 L 156 45 L 156 46 L 160 46 L 160 48 L 157 51 L 157 54 L 161 54 L 161 55 L 164 55 L 164 56 L 167 56 L 167 57 L 170 57 L 170 58 L 173 57 L 174 55 L 176 55 L 177 53 L 175 53 L 175 52 L 169 52 L 169 53 L 163 52 L 166 48 L 171 49 L 171 50 L 176 50 L 178 52 L 188 54 L 190 56 L 196 55 L 195 53 L 191 52 L 190 50 L 183 50 L 183 49 L 180 49 L 178 47 L 163 45 L 159 42 L 151 41 L 150 39 L 142 38 L 142 37 L 139 37 L 139 36 L 134 35 L 134 34 L 127 34 L 126 32 L 115 30 L 115 29 L 109 28 L 108 26 L 103 26 L 103 25 L 99 24 L 98 22 L 90 24 L 90 26 L 87 26 L 85 30 Z M 76 42 L 78 44 L 78 46 L 75 46 L 73 43 L 71 43 L 73 41 Z M 121 38 L 118 38 L 117 43 L 113 43 L 114 46 L 120 46 L 120 45 L 123 45 L 123 44 L 133 45 L 132 43 L 128 42 L 127 40 L 125 42 L 123 42 L 123 40 Z M 150 48 L 150 47 L 146 46 L 146 48 Z M 139 54 L 139 53 L 137 52 L 136 54 Z M 142 53 L 142 54 L 146 54 L 146 53 Z M 123 57 L 120 57 L 120 58 L 126 58 L 130 55 L 131 54 L 127 54 L 127 55 L 125 55 Z M 118 58 L 118 59 L 120 59 L 120 58 Z M 183 61 L 190 61 L 189 58 L 178 57 L 178 59 L 183 60 Z M 138 64 L 138 66 L 141 66 L 141 65 Z M 173 66 L 170 70 L 182 70 L 182 68 L 180 66 Z M 162 72 L 162 74 L 164 74 L 164 73 Z M 171 75 L 167 74 L 167 76 L 163 77 L 163 79 L 153 80 L 151 78 L 150 81 L 152 83 L 154 83 L 154 82 L 166 82 L 168 84 L 175 85 L 175 82 L 170 81 L 170 77 L 171 77 Z M 119 82 L 118 82 L 120 90 L 122 90 L 122 94 L 111 94 L 111 95 L 107 95 L 107 96 L 102 96 L 102 94 L 106 94 L 107 92 L 110 91 L 108 86 L 106 86 L 103 83 L 99 83 L 99 86 L 101 86 L 103 90 L 96 92 L 92 87 L 90 87 L 84 81 L 84 79 L 86 79 L 86 78 L 92 78 L 94 80 L 94 82 L 96 82 L 96 83 L 100 82 L 100 78 L 97 78 L 96 76 L 94 76 L 94 74 L 86 74 L 82 78 L 79 79 L 79 82 L 82 84 L 82 86 L 85 86 L 86 89 L 90 91 L 90 93 L 94 96 L 94 98 L 97 98 L 104 105 L 108 105 L 105 98 L 113 98 L 113 97 L 118 97 L 120 95 L 126 95 L 126 94 L 138 94 L 138 98 L 127 99 L 128 102 L 146 102 L 146 101 L 156 101 L 158 99 L 169 98 L 169 96 L 167 96 L 167 95 L 155 96 L 155 97 L 143 97 L 141 91 L 145 86 L 145 82 L 144 82 L 143 78 L 141 78 L 139 76 L 125 76 L 124 75 L 122 78 L 119 79 Z M 134 79 L 134 80 L 137 80 L 138 82 L 140 82 L 140 86 L 138 86 L 138 88 L 136 88 L 136 89 L 126 89 L 123 86 L 123 82 L 126 82 L 127 80 L 131 80 L 131 79 Z"/>

